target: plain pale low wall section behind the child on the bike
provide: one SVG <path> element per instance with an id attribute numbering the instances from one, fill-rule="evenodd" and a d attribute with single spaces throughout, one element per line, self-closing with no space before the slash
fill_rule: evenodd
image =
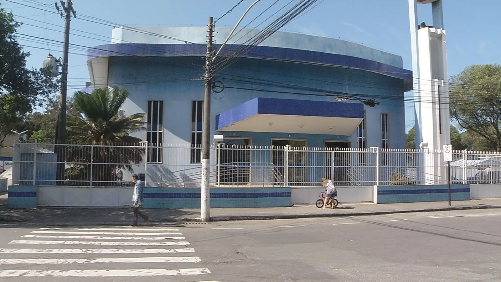
<path id="1" fill-rule="evenodd" d="M 372 186 L 336 187 L 339 202 L 342 203 L 367 203 L 373 201 Z M 292 204 L 312 205 L 320 199 L 320 193 L 325 191 L 322 187 L 298 187 L 292 188 Z"/>

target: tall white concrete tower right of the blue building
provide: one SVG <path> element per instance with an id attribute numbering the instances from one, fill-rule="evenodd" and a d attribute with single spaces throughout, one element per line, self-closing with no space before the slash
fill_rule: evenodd
<path id="1" fill-rule="evenodd" d="M 447 44 L 443 26 L 442 0 L 408 0 L 412 48 L 412 76 L 416 148 L 441 150 L 450 144 Z M 417 4 L 430 4 L 433 23 L 419 27 Z M 445 183 L 446 168 L 440 154 L 422 160 L 426 184 Z"/>

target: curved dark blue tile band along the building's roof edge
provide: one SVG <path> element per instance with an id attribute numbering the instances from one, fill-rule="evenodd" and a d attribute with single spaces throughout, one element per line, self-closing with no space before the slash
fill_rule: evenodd
<path id="1" fill-rule="evenodd" d="M 218 48 L 219 46 L 214 44 L 214 48 Z M 241 48 L 241 45 L 227 44 L 221 50 L 220 55 L 231 56 L 238 48 Z M 205 53 L 205 47 L 201 44 L 114 43 L 89 48 L 87 59 L 91 60 L 97 57 L 112 56 L 200 57 L 205 56 Z M 288 60 L 361 69 L 403 79 L 405 84 L 408 85 L 405 88 L 409 88 L 404 89 L 404 91 L 412 90 L 412 71 L 353 56 L 293 48 L 255 46 L 243 54 L 243 57 Z"/>

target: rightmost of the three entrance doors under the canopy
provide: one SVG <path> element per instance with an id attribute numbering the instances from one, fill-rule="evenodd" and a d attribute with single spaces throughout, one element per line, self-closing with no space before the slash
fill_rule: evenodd
<path id="1" fill-rule="evenodd" d="M 325 148 L 334 152 L 334 162 L 332 160 L 333 154 L 331 152 L 325 154 L 325 175 L 327 179 L 331 179 L 336 186 L 349 185 L 348 170 L 351 164 L 350 152 L 341 151 L 344 148 L 350 148 L 349 142 L 339 141 L 325 141 Z M 334 168 L 332 164 L 334 163 Z"/>

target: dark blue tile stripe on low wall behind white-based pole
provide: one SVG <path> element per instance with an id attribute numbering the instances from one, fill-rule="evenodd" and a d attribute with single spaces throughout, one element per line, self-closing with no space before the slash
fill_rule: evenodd
<path id="1" fill-rule="evenodd" d="M 144 198 L 148 199 L 193 199 L 200 198 L 200 193 L 144 193 Z M 270 193 L 210 193 L 210 198 L 281 198 L 291 197 L 290 192 L 270 192 Z"/>

